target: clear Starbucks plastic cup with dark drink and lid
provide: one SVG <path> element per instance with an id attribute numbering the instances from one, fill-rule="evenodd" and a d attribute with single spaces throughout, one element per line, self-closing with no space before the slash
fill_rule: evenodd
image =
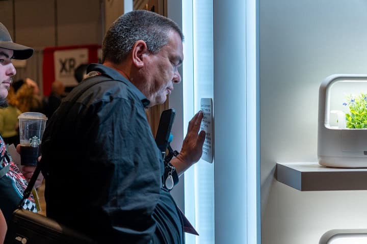
<path id="1" fill-rule="evenodd" d="M 23 166 L 37 166 L 47 117 L 41 113 L 27 112 L 19 115 L 18 119 L 20 164 Z"/>

